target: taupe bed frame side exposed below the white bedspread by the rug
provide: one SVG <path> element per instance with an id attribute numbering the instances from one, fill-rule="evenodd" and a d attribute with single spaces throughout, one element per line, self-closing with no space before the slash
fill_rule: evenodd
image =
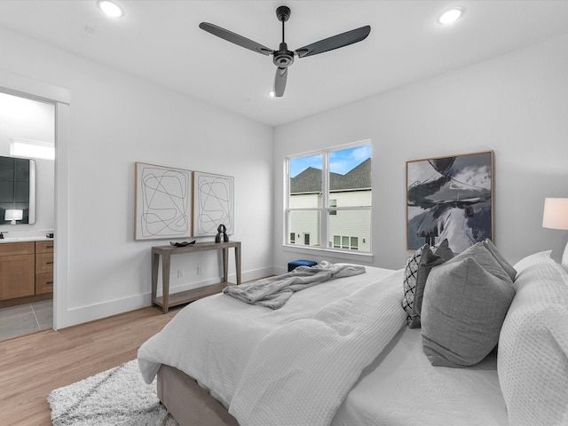
<path id="1" fill-rule="evenodd" d="M 177 368 L 162 365 L 157 387 L 158 398 L 180 426 L 239 426 L 225 406 Z"/>

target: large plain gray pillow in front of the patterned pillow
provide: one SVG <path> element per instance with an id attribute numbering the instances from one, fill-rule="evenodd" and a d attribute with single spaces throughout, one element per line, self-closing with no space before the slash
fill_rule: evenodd
<path id="1" fill-rule="evenodd" d="M 422 301 L 422 350 L 433 366 L 469 367 L 499 342 L 515 296 L 512 280 L 482 243 L 431 270 Z"/>

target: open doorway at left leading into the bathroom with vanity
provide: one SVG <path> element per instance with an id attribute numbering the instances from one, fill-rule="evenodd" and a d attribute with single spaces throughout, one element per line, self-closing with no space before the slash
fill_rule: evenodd
<path id="1" fill-rule="evenodd" d="M 20 286 L 20 282 L 27 288 L 17 294 L 0 291 L 0 341 L 53 327 L 52 287 L 55 281 L 51 271 L 50 288 L 46 274 L 36 273 L 43 272 L 36 268 L 36 258 L 39 258 L 36 256 L 36 247 L 40 247 L 36 241 L 46 241 L 42 247 L 51 247 L 52 268 L 53 241 L 50 241 L 47 235 L 52 235 L 55 228 L 55 111 L 55 102 L 37 99 L 31 95 L 28 97 L 20 93 L 15 94 L 0 88 L 0 157 L 8 160 L 32 159 L 35 170 L 33 181 L 36 184 L 34 191 L 28 192 L 29 205 L 22 208 L 24 185 L 14 180 L 12 187 L 9 179 L 0 181 L 0 185 L 7 186 L 8 192 L 12 192 L 12 207 L 15 206 L 16 209 L 11 211 L 23 209 L 26 214 L 22 216 L 36 217 L 34 220 L 22 220 L 21 223 L 18 217 L 12 222 L 0 217 L 0 233 L 3 236 L 0 244 L 3 244 L 2 251 L 5 253 L 0 261 L 15 264 L 16 260 L 12 262 L 11 259 L 18 258 L 17 261 L 25 265 L 29 262 L 23 258 L 34 260 L 34 264 L 25 272 L 18 270 L 20 266 L 12 266 L 14 273 L 2 274 L 2 285 L 5 288 L 14 288 L 16 283 Z M 0 175 L 1 173 L 2 170 Z M 31 185 L 28 186 L 28 191 L 30 187 Z M 8 193 L 3 193 L 0 202 L 8 202 L 4 200 L 7 197 Z M 36 215 L 31 215 L 32 211 L 35 211 Z M 12 248 L 17 251 L 24 250 L 27 254 L 12 256 Z M 47 259 L 47 263 L 49 260 Z M 38 285 L 40 281 L 42 284 Z"/>

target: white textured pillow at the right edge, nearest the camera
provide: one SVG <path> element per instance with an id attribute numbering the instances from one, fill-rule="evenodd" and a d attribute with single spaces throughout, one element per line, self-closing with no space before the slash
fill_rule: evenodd
<path id="1" fill-rule="evenodd" d="M 515 269 L 497 359 L 509 424 L 568 424 L 568 273 L 549 251 Z"/>

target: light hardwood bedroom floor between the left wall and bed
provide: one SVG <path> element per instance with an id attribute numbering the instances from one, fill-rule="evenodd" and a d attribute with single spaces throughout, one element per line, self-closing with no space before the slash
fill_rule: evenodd
<path id="1" fill-rule="evenodd" d="M 148 307 L 0 342 L 0 424 L 51 425 L 51 390 L 135 359 L 179 310 Z"/>

